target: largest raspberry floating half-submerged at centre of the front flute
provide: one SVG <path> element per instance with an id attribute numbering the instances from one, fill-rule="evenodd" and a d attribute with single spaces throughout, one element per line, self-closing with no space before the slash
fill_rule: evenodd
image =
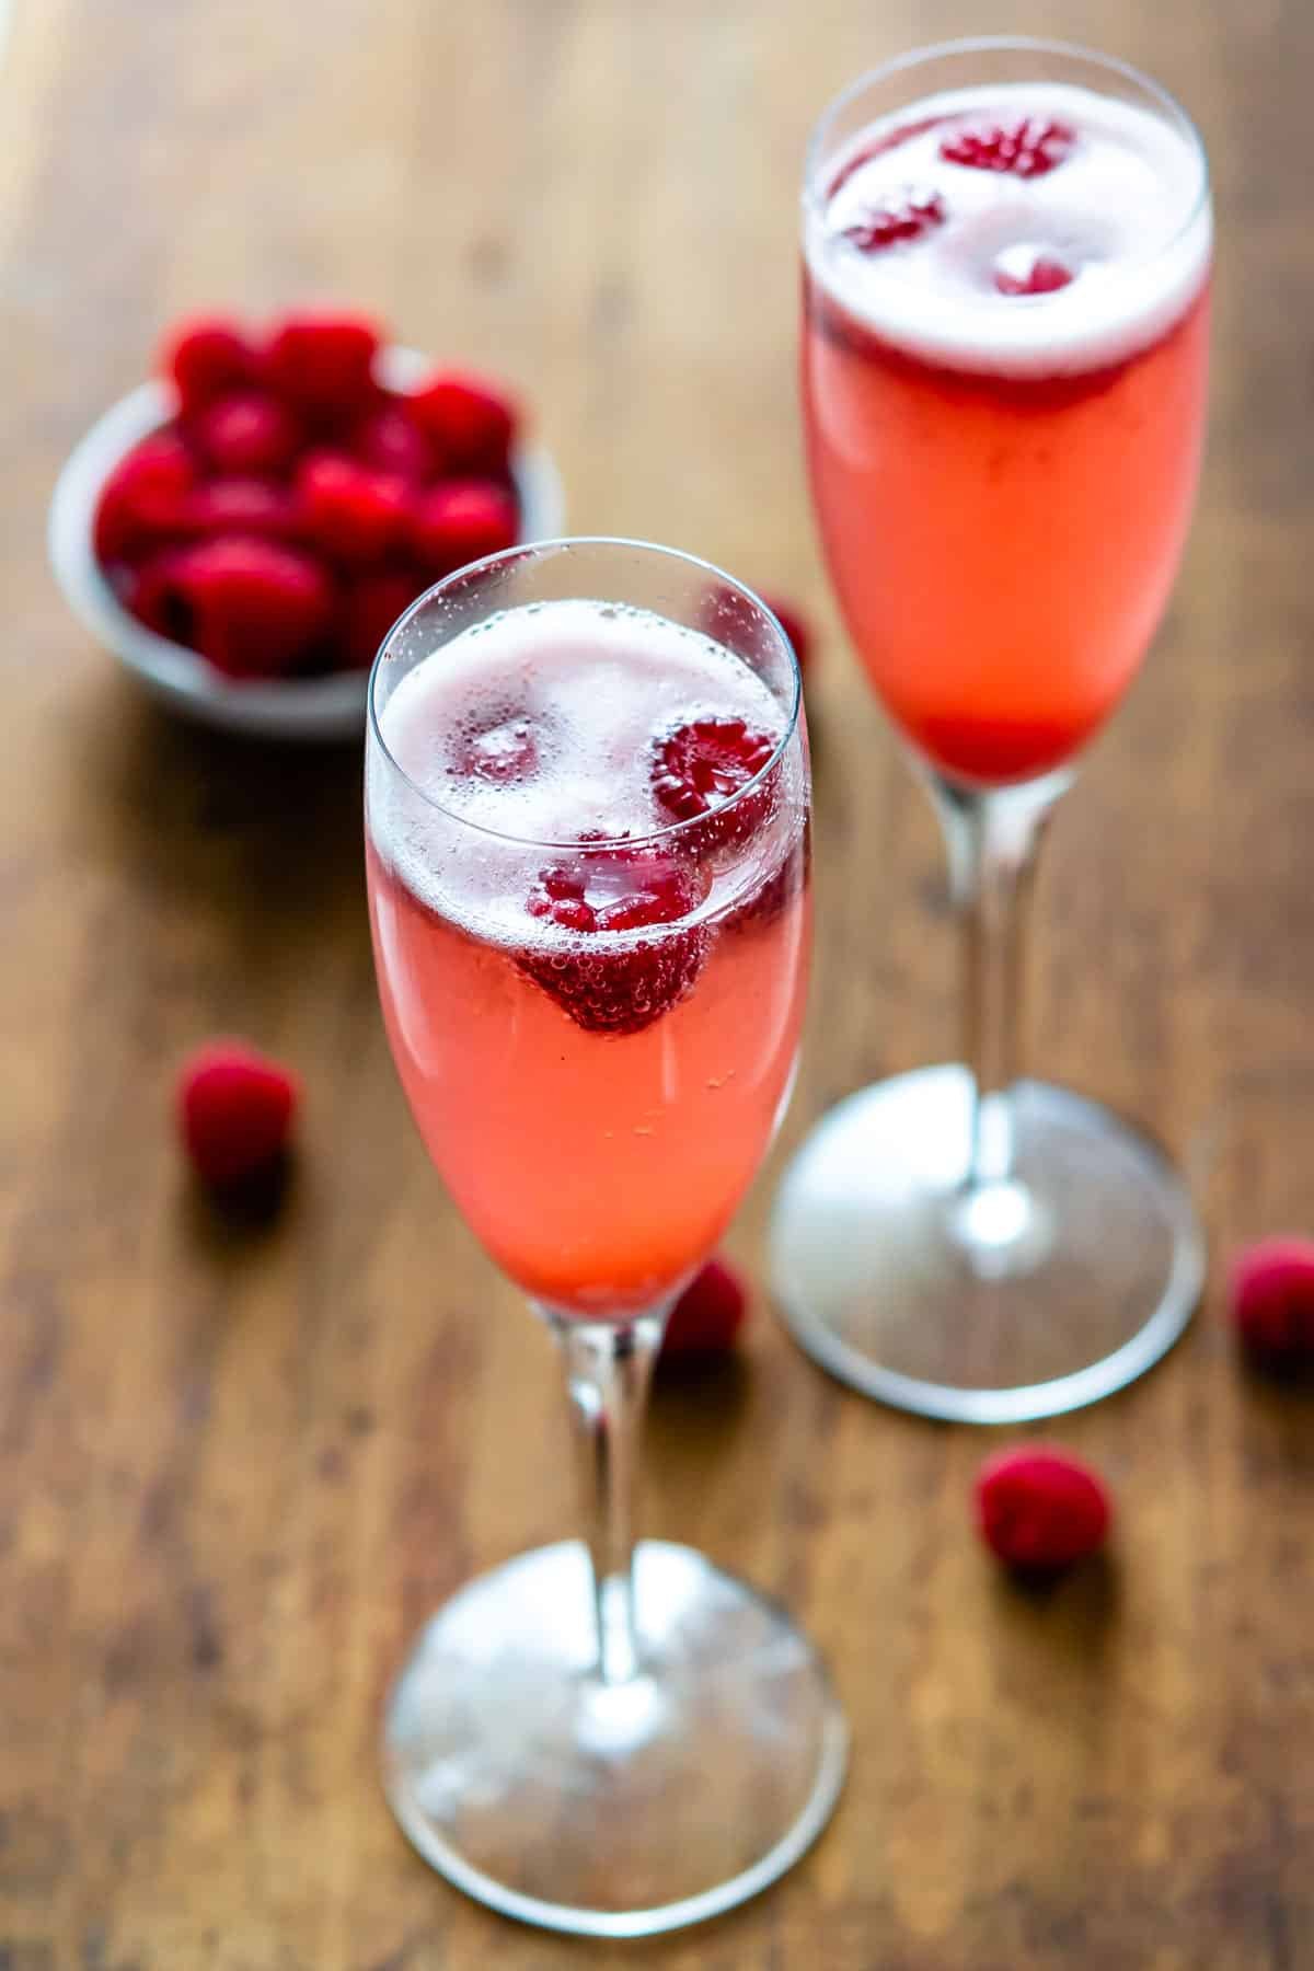
<path id="1" fill-rule="evenodd" d="M 544 869 L 526 899 L 530 917 L 585 940 L 672 926 L 656 938 L 605 950 L 548 946 L 520 956 L 520 968 L 585 1033 L 642 1033 L 693 987 L 707 956 L 701 924 L 674 928 L 707 895 L 705 881 L 656 848 L 581 848 Z"/>

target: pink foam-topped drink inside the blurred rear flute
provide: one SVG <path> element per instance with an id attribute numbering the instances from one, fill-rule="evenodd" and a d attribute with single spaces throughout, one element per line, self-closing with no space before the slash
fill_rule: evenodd
<path id="1" fill-rule="evenodd" d="M 999 83 L 869 124 L 810 187 L 821 536 L 877 692 L 953 781 L 1072 759 L 1162 615 L 1204 428 L 1196 171 L 1149 106 Z"/>

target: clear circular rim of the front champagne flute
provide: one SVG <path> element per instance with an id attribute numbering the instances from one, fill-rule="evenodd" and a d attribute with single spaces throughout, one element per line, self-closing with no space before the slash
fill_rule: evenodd
<path id="1" fill-rule="evenodd" d="M 404 635 L 404 631 L 408 629 L 408 625 L 412 625 L 418 619 L 418 615 L 435 597 L 443 595 L 457 581 L 467 581 L 471 576 L 493 572 L 493 570 L 500 568 L 502 564 L 512 564 L 512 562 L 526 560 L 526 556 L 546 558 L 548 554 L 565 554 L 571 548 L 607 548 L 607 550 L 611 550 L 611 548 L 624 548 L 628 552 L 638 552 L 638 554 L 644 554 L 644 556 L 656 556 L 656 558 L 666 560 L 666 562 L 684 562 L 686 568 L 697 568 L 697 570 L 701 570 L 703 574 L 711 576 L 721 587 L 727 587 L 735 595 L 745 597 L 753 605 L 753 609 L 756 609 L 756 611 L 762 613 L 762 617 L 766 619 L 766 623 L 776 633 L 776 639 L 778 639 L 778 643 L 780 643 L 780 646 L 784 650 L 786 662 L 790 666 L 790 704 L 788 704 L 788 712 L 786 712 L 786 721 L 784 721 L 784 727 L 780 731 L 780 737 L 778 737 L 776 745 L 772 747 L 770 759 L 762 767 L 758 767 L 758 771 L 753 775 L 751 781 L 745 781 L 743 786 L 735 788 L 735 792 L 731 794 L 731 798 L 725 800 L 725 802 L 721 802 L 721 806 L 715 812 L 717 814 L 729 814 L 756 786 L 760 786 L 776 771 L 776 767 L 784 759 L 784 753 L 786 753 L 786 749 L 788 749 L 788 745 L 794 739 L 794 733 L 798 729 L 798 715 L 800 715 L 802 702 L 804 702 L 804 680 L 802 680 L 802 670 L 798 666 L 798 652 L 794 650 L 794 645 L 790 643 L 790 639 L 788 639 L 788 635 L 784 631 L 784 625 L 780 623 L 780 617 L 774 613 L 774 609 L 768 603 L 762 601 L 762 597 L 756 593 L 756 589 L 751 589 L 747 585 L 747 581 L 739 581 L 735 576 L 727 574 L 727 570 L 719 568 L 715 562 L 703 560 L 701 554 L 690 554 L 684 548 L 666 548 L 666 546 L 662 546 L 662 542 L 656 542 L 656 540 L 632 540 L 632 538 L 628 538 L 624 534 L 556 534 L 550 540 L 522 540 L 522 542 L 516 542 L 514 548 L 502 548 L 498 554 L 485 554 L 477 562 L 467 562 L 463 568 L 453 568 L 449 576 L 441 578 L 441 581 L 433 581 L 422 595 L 416 595 L 414 603 L 410 603 L 410 607 L 404 609 L 404 613 L 388 629 L 384 641 L 378 645 L 378 650 L 374 652 L 374 662 L 370 664 L 370 680 L 368 680 L 368 692 L 366 692 L 366 700 L 368 700 L 368 704 L 366 704 L 366 712 L 368 712 L 366 739 L 372 739 L 372 743 L 378 747 L 378 751 L 386 759 L 386 763 L 392 769 L 392 773 L 426 804 L 426 808 L 433 808 L 433 812 L 441 814 L 443 820 L 455 822 L 457 828 L 465 828 L 471 834 L 483 836 L 489 842 L 502 842 L 502 844 L 510 846 L 510 848 L 522 848 L 522 850 L 563 850 L 563 851 L 571 851 L 571 850 L 591 848 L 591 850 L 595 850 L 599 853 L 607 853 L 613 848 L 615 850 L 636 850 L 636 848 L 648 848 L 654 842 L 670 842 L 676 836 L 682 836 L 686 832 L 703 828 L 707 824 L 707 816 L 705 814 L 693 814 L 693 816 L 690 816 L 686 820 L 668 822 L 666 826 L 654 828 L 654 830 L 650 830 L 648 834 L 642 834 L 642 836 L 630 836 L 630 834 L 619 836 L 615 842 L 581 842 L 579 836 L 573 836 L 567 842 L 550 842 L 550 840 L 540 838 L 540 836 L 514 836 L 514 834 L 508 834 L 506 830 L 500 830 L 500 828 L 489 828 L 483 822 L 471 820 L 467 814 L 457 814 L 455 808 L 445 806 L 441 800 L 437 800 L 433 794 L 429 794 L 414 779 L 414 775 L 410 775 L 406 771 L 406 767 L 402 767 L 402 763 L 398 761 L 396 753 L 392 751 L 392 747 L 384 739 L 380 717 L 378 717 L 378 678 L 380 678 L 380 670 L 382 670 L 384 662 L 388 660 L 388 652 L 394 648 L 398 637 Z M 561 597 L 561 599 L 567 599 L 567 597 Z M 575 599 L 575 597 L 569 597 L 569 599 Z M 609 601 L 607 595 L 583 595 L 583 597 L 577 597 L 577 599 L 579 601 L 601 601 L 601 603 Z M 508 607 L 514 609 L 514 607 L 524 607 L 524 605 L 510 603 Z M 447 641 L 453 641 L 453 639 L 447 639 Z M 709 633 L 709 641 L 715 643 L 717 639 L 711 637 L 711 633 Z M 437 648 L 441 648 L 441 645 L 435 645 L 435 650 Z M 427 656 L 420 658 L 420 664 L 424 664 L 424 662 L 427 662 Z M 414 668 L 418 668 L 418 664 Z"/>

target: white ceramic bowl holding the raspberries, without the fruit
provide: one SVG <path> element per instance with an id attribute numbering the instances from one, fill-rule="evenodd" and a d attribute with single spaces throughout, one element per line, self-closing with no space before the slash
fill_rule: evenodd
<path id="1" fill-rule="evenodd" d="M 404 390 L 433 363 L 416 349 L 384 349 L 382 380 Z M 49 507 L 47 548 L 55 581 L 79 621 L 146 690 L 187 717 L 262 739 L 351 739 L 364 727 L 366 670 L 325 678 L 246 684 L 221 676 L 181 643 L 156 637 L 128 615 L 104 579 L 93 548 L 100 487 L 124 453 L 173 416 L 173 392 L 144 382 L 112 404 L 71 451 Z M 520 540 L 552 540 L 561 532 L 561 481 L 548 451 L 520 447 L 512 457 L 520 495 Z"/>

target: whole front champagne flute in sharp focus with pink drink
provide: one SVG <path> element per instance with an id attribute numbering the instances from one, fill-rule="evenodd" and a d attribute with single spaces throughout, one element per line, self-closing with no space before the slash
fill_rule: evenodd
<path id="1" fill-rule="evenodd" d="M 788 1096 L 808 806 L 788 641 L 690 556 L 512 550 L 422 597 L 374 664 L 392 1053 L 453 1198 L 559 1344 L 591 1498 L 587 1543 L 508 1561 L 422 1632 L 386 1786 L 435 1869 L 556 1930 L 642 1936 L 741 1902 L 843 1778 L 806 1638 L 630 1531 L 666 1315 Z"/>

